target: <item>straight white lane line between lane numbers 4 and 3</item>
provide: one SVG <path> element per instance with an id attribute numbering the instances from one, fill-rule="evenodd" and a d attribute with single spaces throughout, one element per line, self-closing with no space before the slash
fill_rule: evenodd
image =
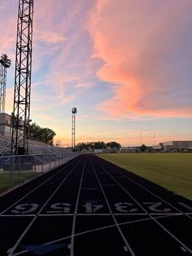
<path id="1" fill-rule="evenodd" d="M 127 246 L 127 248 L 129 249 L 129 253 L 130 253 L 132 256 L 135 256 L 135 254 L 134 254 L 134 252 L 133 252 L 133 249 L 132 249 L 131 246 L 129 245 L 128 241 L 126 240 L 126 238 L 125 238 L 125 236 L 124 236 L 124 233 L 123 233 L 122 230 L 120 229 L 120 226 L 119 226 L 119 223 L 118 223 L 117 220 L 116 220 L 116 217 L 115 217 L 115 216 L 113 215 L 113 213 L 112 213 L 111 206 L 110 206 L 109 202 L 107 201 L 107 196 L 106 196 L 106 194 L 105 194 L 105 192 L 104 192 L 104 190 L 103 190 L 103 186 L 102 186 L 102 184 L 100 183 L 100 180 L 98 179 L 98 174 L 96 173 L 96 171 L 95 171 L 95 169 L 94 169 L 94 166 L 93 166 L 93 164 L 92 164 L 91 161 L 90 161 L 90 163 L 91 163 L 91 166 L 92 166 L 92 168 L 93 168 L 93 170 L 94 170 L 94 174 L 96 175 L 96 178 L 97 178 L 97 180 L 98 180 L 98 184 L 99 184 L 99 186 L 100 186 L 100 188 L 101 188 L 101 190 L 102 190 L 102 192 L 103 192 L 103 196 L 105 197 L 105 200 L 106 200 L 106 202 L 107 202 L 107 206 L 108 206 L 108 208 L 109 208 L 109 211 L 110 211 L 110 213 L 111 213 L 111 216 L 112 216 L 114 222 L 116 223 L 116 227 L 117 227 L 118 231 L 120 232 L 120 236 L 122 237 L 122 239 L 123 239 L 123 241 L 124 241 L 124 244 L 125 244 L 125 245 Z"/>

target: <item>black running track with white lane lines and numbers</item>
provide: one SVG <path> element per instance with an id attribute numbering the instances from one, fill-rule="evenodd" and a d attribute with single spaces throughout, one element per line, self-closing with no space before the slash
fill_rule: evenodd
<path id="1" fill-rule="evenodd" d="M 0 197 L 0 255 L 191 255 L 192 202 L 94 155 Z"/>

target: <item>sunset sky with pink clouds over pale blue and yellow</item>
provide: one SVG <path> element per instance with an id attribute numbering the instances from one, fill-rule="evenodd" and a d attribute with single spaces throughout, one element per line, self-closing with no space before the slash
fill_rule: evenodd
<path id="1" fill-rule="evenodd" d="M 13 109 L 18 0 L 0 2 Z M 71 145 L 192 140 L 191 0 L 34 0 L 31 118 Z"/>

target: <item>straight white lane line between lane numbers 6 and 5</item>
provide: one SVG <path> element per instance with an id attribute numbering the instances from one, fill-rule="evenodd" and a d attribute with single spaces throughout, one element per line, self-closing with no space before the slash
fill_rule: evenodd
<path id="1" fill-rule="evenodd" d="M 58 192 L 59 188 L 63 185 L 63 183 L 68 179 L 69 175 L 72 174 L 72 171 L 76 169 L 76 166 L 79 164 L 80 161 L 76 163 L 75 166 L 73 166 L 72 170 L 68 173 L 68 175 L 63 179 L 63 181 L 59 184 L 58 188 L 55 189 L 55 192 L 52 193 L 52 195 L 49 197 L 49 199 L 45 202 L 44 205 L 42 205 L 41 209 L 37 212 L 36 216 L 33 218 L 33 220 L 28 224 L 28 227 L 25 228 L 24 232 L 20 235 L 19 239 L 15 242 L 15 245 L 11 248 L 11 253 L 8 254 L 9 256 L 12 256 L 12 254 L 15 252 L 15 249 L 20 245 L 20 241 L 23 240 L 24 236 L 28 232 L 29 228 L 33 225 L 35 220 L 37 219 L 38 215 L 41 213 L 41 210 L 43 210 L 46 206 L 46 204 L 50 201 L 50 199 L 55 196 L 55 193 Z"/>

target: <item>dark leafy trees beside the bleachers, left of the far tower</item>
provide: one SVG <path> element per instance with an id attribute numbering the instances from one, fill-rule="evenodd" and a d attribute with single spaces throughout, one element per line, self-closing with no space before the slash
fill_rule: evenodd
<path id="1" fill-rule="evenodd" d="M 50 128 L 43 128 L 35 122 L 29 125 L 29 139 L 37 139 L 43 143 L 53 145 L 53 139 L 56 135 L 54 130 Z"/>

